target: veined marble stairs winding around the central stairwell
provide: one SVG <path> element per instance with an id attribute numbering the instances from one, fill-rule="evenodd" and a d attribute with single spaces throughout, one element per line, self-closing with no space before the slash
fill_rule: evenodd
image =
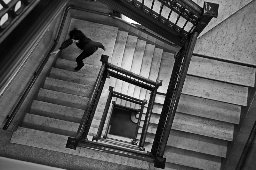
<path id="1" fill-rule="evenodd" d="M 65 148 L 65 145 L 68 136 L 76 135 L 101 66 L 100 55 L 105 54 L 109 55 L 108 61 L 112 64 L 154 81 L 163 80 L 158 89 L 144 145 L 146 151 L 150 151 L 172 73 L 174 54 L 155 48 L 147 41 L 140 40 L 140 37 L 120 31 L 117 27 L 72 19 L 70 28 L 74 26 L 83 26 L 81 29 L 84 29 L 86 35 L 94 41 L 102 42 L 107 51 L 99 49 L 84 60 L 84 68 L 75 71 L 75 59 L 81 50 L 74 46 L 63 50 L 30 112 L 25 115 L 22 126 L 13 133 L 11 142 L 142 169 L 158 169 L 145 161 L 86 148 L 71 150 Z M 255 68 L 240 65 L 239 62 L 241 60 L 230 63 L 225 59 L 220 61 L 203 55 L 192 56 L 164 153 L 165 169 L 220 169 L 221 158 L 226 157 L 228 141 L 233 140 L 234 125 L 239 124 L 241 107 L 247 105 L 248 88 L 255 84 Z M 89 140 L 97 133 L 108 97 L 108 86 L 113 86 L 114 91 L 141 100 L 149 98 L 148 90 L 115 78 L 107 79 L 89 131 Z M 113 100 L 127 107 L 139 107 L 124 100 Z M 102 135 L 105 134 L 111 107 Z M 143 120 L 146 109 L 147 105 Z M 142 126 L 143 121 L 140 123 L 138 141 Z"/>

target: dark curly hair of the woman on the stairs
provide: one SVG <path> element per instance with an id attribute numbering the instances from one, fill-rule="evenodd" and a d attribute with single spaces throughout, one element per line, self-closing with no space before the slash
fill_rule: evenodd
<path id="1" fill-rule="evenodd" d="M 87 38 L 84 33 L 77 28 L 74 28 L 69 32 L 69 38 L 74 40 L 79 40 L 78 43 L 76 43 L 76 46 L 80 49 L 84 47 L 85 44 L 87 44 L 89 41 L 91 41 L 89 38 Z"/>

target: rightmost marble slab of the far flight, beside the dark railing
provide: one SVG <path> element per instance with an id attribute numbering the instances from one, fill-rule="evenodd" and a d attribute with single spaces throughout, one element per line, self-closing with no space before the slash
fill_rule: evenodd
<path id="1" fill-rule="evenodd" d="M 169 81 L 172 75 L 172 68 L 175 61 L 173 57 L 174 57 L 174 54 L 163 52 L 160 69 L 158 72 L 158 78 L 157 78 L 159 80 L 163 80 L 163 82 L 162 82 L 162 86 L 158 88 L 157 92 L 161 92 L 161 93 L 167 92 Z"/>

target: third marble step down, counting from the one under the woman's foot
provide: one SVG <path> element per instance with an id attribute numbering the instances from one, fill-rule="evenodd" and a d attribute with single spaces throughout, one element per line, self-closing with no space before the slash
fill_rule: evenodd
<path id="1" fill-rule="evenodd" d="M 77 96 L 90 97 L 93 87 L 63 81 L 55 78 L 46 78 L 44 82 L 44 89 L 53 90 L 57 92 L 64 92 Z"/>

